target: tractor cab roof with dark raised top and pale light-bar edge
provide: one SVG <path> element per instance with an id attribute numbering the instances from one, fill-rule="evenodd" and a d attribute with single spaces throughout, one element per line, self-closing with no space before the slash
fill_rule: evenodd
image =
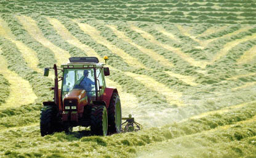
<path id="1" fill-rule="evenodd" d="M 100 63 L 96 57 L 72 57 L 70 62 L 62 64 L 63 68 L 92 68 L 103 67 L 105 64 Z"/>

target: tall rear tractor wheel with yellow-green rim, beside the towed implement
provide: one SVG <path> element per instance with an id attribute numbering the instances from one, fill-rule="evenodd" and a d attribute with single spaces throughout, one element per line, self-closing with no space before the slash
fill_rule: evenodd
<path id="1" fill-rule="evenodd" d="M 121 102 L 118 93 L 114 92 L 110 100 L 110 107 L 108 107 L 108 134 L 120 133 L 121 126 Z"/>

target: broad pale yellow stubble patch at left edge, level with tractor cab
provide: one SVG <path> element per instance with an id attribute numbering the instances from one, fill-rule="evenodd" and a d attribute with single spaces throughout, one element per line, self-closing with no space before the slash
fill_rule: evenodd
<path id="1" fill-rule="evenodd" d="M 9 52 L 2 52 L 0 50 L 0 54 L 3 53 Z M 34 103 L 34 101 L 37 99 L 37 96 L 34 94 L 30 83 L 20 77 L 17 73 L 10 71 L 8 69 L 6 59 L 2 55 L 0 55 L 0 61 L 0 73 L 4 75 L 4 78 L 6 78 L 10 84 L 9 97 L 6 99 L 5 103 L 2 103 L 0 109 L 20 107 L 21 105 Z"/>

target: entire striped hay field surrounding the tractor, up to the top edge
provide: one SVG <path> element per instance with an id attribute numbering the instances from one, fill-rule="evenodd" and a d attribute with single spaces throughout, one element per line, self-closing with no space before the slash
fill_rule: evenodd
<path id="1" fill-rule="evenodd" d="M 54 73 L 105 62 L 138 132 L 41 137 Z M 255 157 L 255 0 L 1 0 L 0 157 Z"/>

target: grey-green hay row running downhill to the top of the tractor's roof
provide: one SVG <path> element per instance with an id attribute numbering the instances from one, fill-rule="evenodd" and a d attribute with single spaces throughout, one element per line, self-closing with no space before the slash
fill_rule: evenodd
<path id="1" fill-rule="evenodd" d="M 64 40 L 62 36 L 60 36 L 60 34 L 57 33 L 58 29 L 54 29 L 54 27 L 52 26 L 52 24 L 49 23 L 46 17 L 37 15 L 32 16 L 31 18 L 33 18 L 33 20 L 36 21 L 36 24 L 38 28 L 41 30 L 42 34 L 44 34 L 44 37 L 50 40 L 50 42 L 54 43 L 54 45 L 56 45 L 59 48 L 62 48 L 65 51 L 68 51 L 68 53 L 72 57 L 86 56 L 86 53 L 83 50 Z"/>

